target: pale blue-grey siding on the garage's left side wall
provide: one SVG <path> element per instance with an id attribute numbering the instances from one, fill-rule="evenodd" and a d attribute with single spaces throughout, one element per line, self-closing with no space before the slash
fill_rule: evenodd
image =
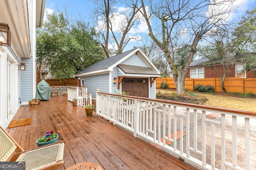
<path id="1" fill-rule="evenodd" d="M 96 90 L 100 89 L 100 92 L 109 93 L 109 74 L 100 74 L 93 76 L 81 77 L 84 79 L 84 86 L 87 87 L 88 94 L 92 94 L 93 98 L 96 98 Z"/>

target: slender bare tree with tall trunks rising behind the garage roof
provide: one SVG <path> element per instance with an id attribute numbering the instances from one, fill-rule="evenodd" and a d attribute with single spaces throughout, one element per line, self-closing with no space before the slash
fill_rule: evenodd
<path id="1" fill-rule="evenodd" d="M 97 30 L 102 35 L 100 45 L 104 48 L 106 57 L 110 57 L 110 48 L 116 48 L 116 54 L 122 53 L 131 39 L 138 39 L 136 35 L 128 35 L 132 27 L 138 24 L 138 0 L 124 0 L 119 2 L 124 6 L 117 11 L 115 0 L 97 0 L 95 10 Z M 110 47 L 110 44 L 112 47 Z"/>

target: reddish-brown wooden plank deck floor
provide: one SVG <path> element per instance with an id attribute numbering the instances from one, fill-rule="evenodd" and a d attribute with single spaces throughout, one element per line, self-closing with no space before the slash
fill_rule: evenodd
<path id="1" fill-rule="evenodd" d="M 72 106 L 60 95 L 35 106 L 20 107 L 13 120 L 31 117 L 31 124 L 6 129 L 23 149 L 36 148 L 36 140 L 56 131 L 65 140 L 64 168 L 94 162 L 106 170 L 196 169 L 142 139 L 93 114 Z"/>

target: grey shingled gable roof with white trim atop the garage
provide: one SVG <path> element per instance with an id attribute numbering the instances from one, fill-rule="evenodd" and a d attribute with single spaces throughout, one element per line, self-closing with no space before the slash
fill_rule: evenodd
<path id="1" fill-rule="evenodd" d="M 113 57 L 109 57 L 107 59 L 104 59 L 102 61 L 98 61 L 97 63 L 94 63 L 90 66 L 88 66 L 87 68 L 85 68 L 84 70 L 76 73 L 75 76 L 84 76 L 84 75 L 90 75 L 90 74 L 99 74 L 100 72 L 109 72 L 112 71 L 113 68 L 115 66 L 118 66 L 118 64 L 122 63 L 123 61 L 125 61 L 126 59 L 128 59 L 130 56 L 132 56 L 134 53 L 138 54 L 140 53 L 140 55 L 138 55 L 139 57 L 144 57 L 144 59 L 147 61 L 146 63 L 149 64 L 149 67 L 151 69 L 151 71 L 149 70 L 145 70 L 145 73 L 149 73 L 149 72 L 154 72 L 153 75 L 160 75 L 160 72 L 158 71 L 158 69 L 154 66 L 154 64 L 148 59 L 148 57 L 146 57 L 146 55 L 141 51 L 140 48 L 136 48 L 136 49 L 132 49 L 129 51 L 126 51 L 124 53 L 115 55 Z M 137 66 L 136 66 L 137 67 Z M 126 69 L 127 72 L 131 72 L 133 70 L 133 72 L 136 70 L 135 67 L 130 67 L 130 71 L 127 70 L 127 68 L 124 68 L 124 66 L 122 67 L 123 69 Z M 143 68 L 143 67 L 142 67 Z M 146 67 L 145 67 L 146 68 Z M 137 68 L 138 69 L 138 68 Z M 137 74 L 141 72 L 136 72 Z M 157 74 L 156 74 L 157 73 Z M 132 74 L 132 73 L 131 73 Z M 135 73 L 133 73 L 135 74 Z"/>

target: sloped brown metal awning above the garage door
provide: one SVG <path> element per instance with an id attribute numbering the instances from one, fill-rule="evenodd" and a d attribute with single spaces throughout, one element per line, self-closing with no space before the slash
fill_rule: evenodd
<path id="1" fill-rule="evenodd" d="M 147 74 L 147 75 L 160 75 L 156 70 L 150 67 L 130 66 L 124 64 L 118 64 L 125 74 Z"/>

